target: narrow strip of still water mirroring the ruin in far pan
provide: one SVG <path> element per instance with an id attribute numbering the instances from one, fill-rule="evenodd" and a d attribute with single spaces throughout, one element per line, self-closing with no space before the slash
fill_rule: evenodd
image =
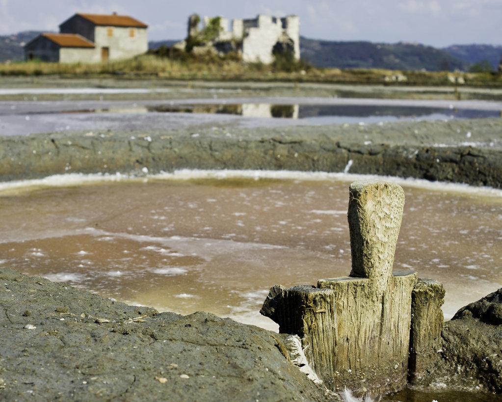
<path id="1" fill-rule="evenodd" d="M 34 115 L 60 116 L 61 114 L 76 115 L 96 114 L 145 114 L 157 113 L 191 113 L 191 114 L 219 114 L 236 115 L 248 118 L 285 118 L 305 120 L 308 124 L 336 124 L 336 123 L 371 123 L 396 120 L 438 120 L 438 119 L 464 119 L 464 118 L 499 118 L 500 111 L 483 108 L 460 108 L 439 106 L 410 106 L 396 104 L 323 104 L 323 103 L 270 103 L 260 101 L 239 102 L 232 99 L 213 102 L 188 102 L 169 101 L 153 103 L 108 103 L 101 107 L 94 107 L 101 102 L 85 103 L 74 102 L 75 108 L 60 107 L 55 102 L 53 107 L 39 110 L 37 107 L 28 108 L 21 113 Z M 88 105 L 87 107 L 85 105 Z M 26 109 L 26 108 L 25 108 Z M 11 111 L 10 109 L 8 111 Z M 19 113 L 19 112 L 16 112 Z M 14 113 L 14 114 L 16 114 Z M 2 111 L 0 110 L 0 114 Z M 7 113 L 7 114 L 13 114 Z M 3 120 L 5 121 L 5 120 Z"/>

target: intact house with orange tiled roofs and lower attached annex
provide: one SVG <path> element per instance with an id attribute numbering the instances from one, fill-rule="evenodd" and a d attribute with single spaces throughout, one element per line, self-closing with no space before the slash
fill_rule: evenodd
<path id="1" fill-rule="evenodd" d="M 95 63 L 127 59 L 148 50 L 147 25 L 129 16 L 75 14 L 25 46 L 26 60 Z"/>

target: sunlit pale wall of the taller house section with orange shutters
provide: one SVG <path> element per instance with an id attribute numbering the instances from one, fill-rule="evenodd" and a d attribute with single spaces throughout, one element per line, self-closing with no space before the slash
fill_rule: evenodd
<path id="1" fill-rule="evenodd" d="M 111 36 L 108 36 L 109 29 L 112 30 Z M 130 36 L 131 29 L 135 32 L 134 37 Z M 127 59 L 148 51 L 147 29 L 96 26 L 94 44 L 99 57 L 101 57 L 101 48 L 107 47 L 109 60 Z"/>

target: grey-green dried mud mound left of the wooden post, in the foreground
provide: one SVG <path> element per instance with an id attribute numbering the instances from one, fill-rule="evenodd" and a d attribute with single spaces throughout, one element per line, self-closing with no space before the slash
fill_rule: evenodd
<path id="1" fill-rule="evenodd" d="M 0 270 L 2 400 L 339 400 L 282 335 L 208 313 L 128 306 Z"/>

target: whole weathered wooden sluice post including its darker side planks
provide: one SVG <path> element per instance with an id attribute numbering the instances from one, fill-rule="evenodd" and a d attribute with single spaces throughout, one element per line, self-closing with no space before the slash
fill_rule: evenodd
<path id="1" fill-rule="evenodd" d="M 302 339 L 310 365 L 328 387 L 356 394 L 397 391 L 406 385 L 410 352 L 411 378 L 434 359 L 444 290 L 436 281 L 418 283 L 415 272 L 392 272 L 403 189 L 359 181 L 349 194 L 350 275 L 319 280 L 317 288 L 276 285 L 261 313 L 280 332 Z"/>

